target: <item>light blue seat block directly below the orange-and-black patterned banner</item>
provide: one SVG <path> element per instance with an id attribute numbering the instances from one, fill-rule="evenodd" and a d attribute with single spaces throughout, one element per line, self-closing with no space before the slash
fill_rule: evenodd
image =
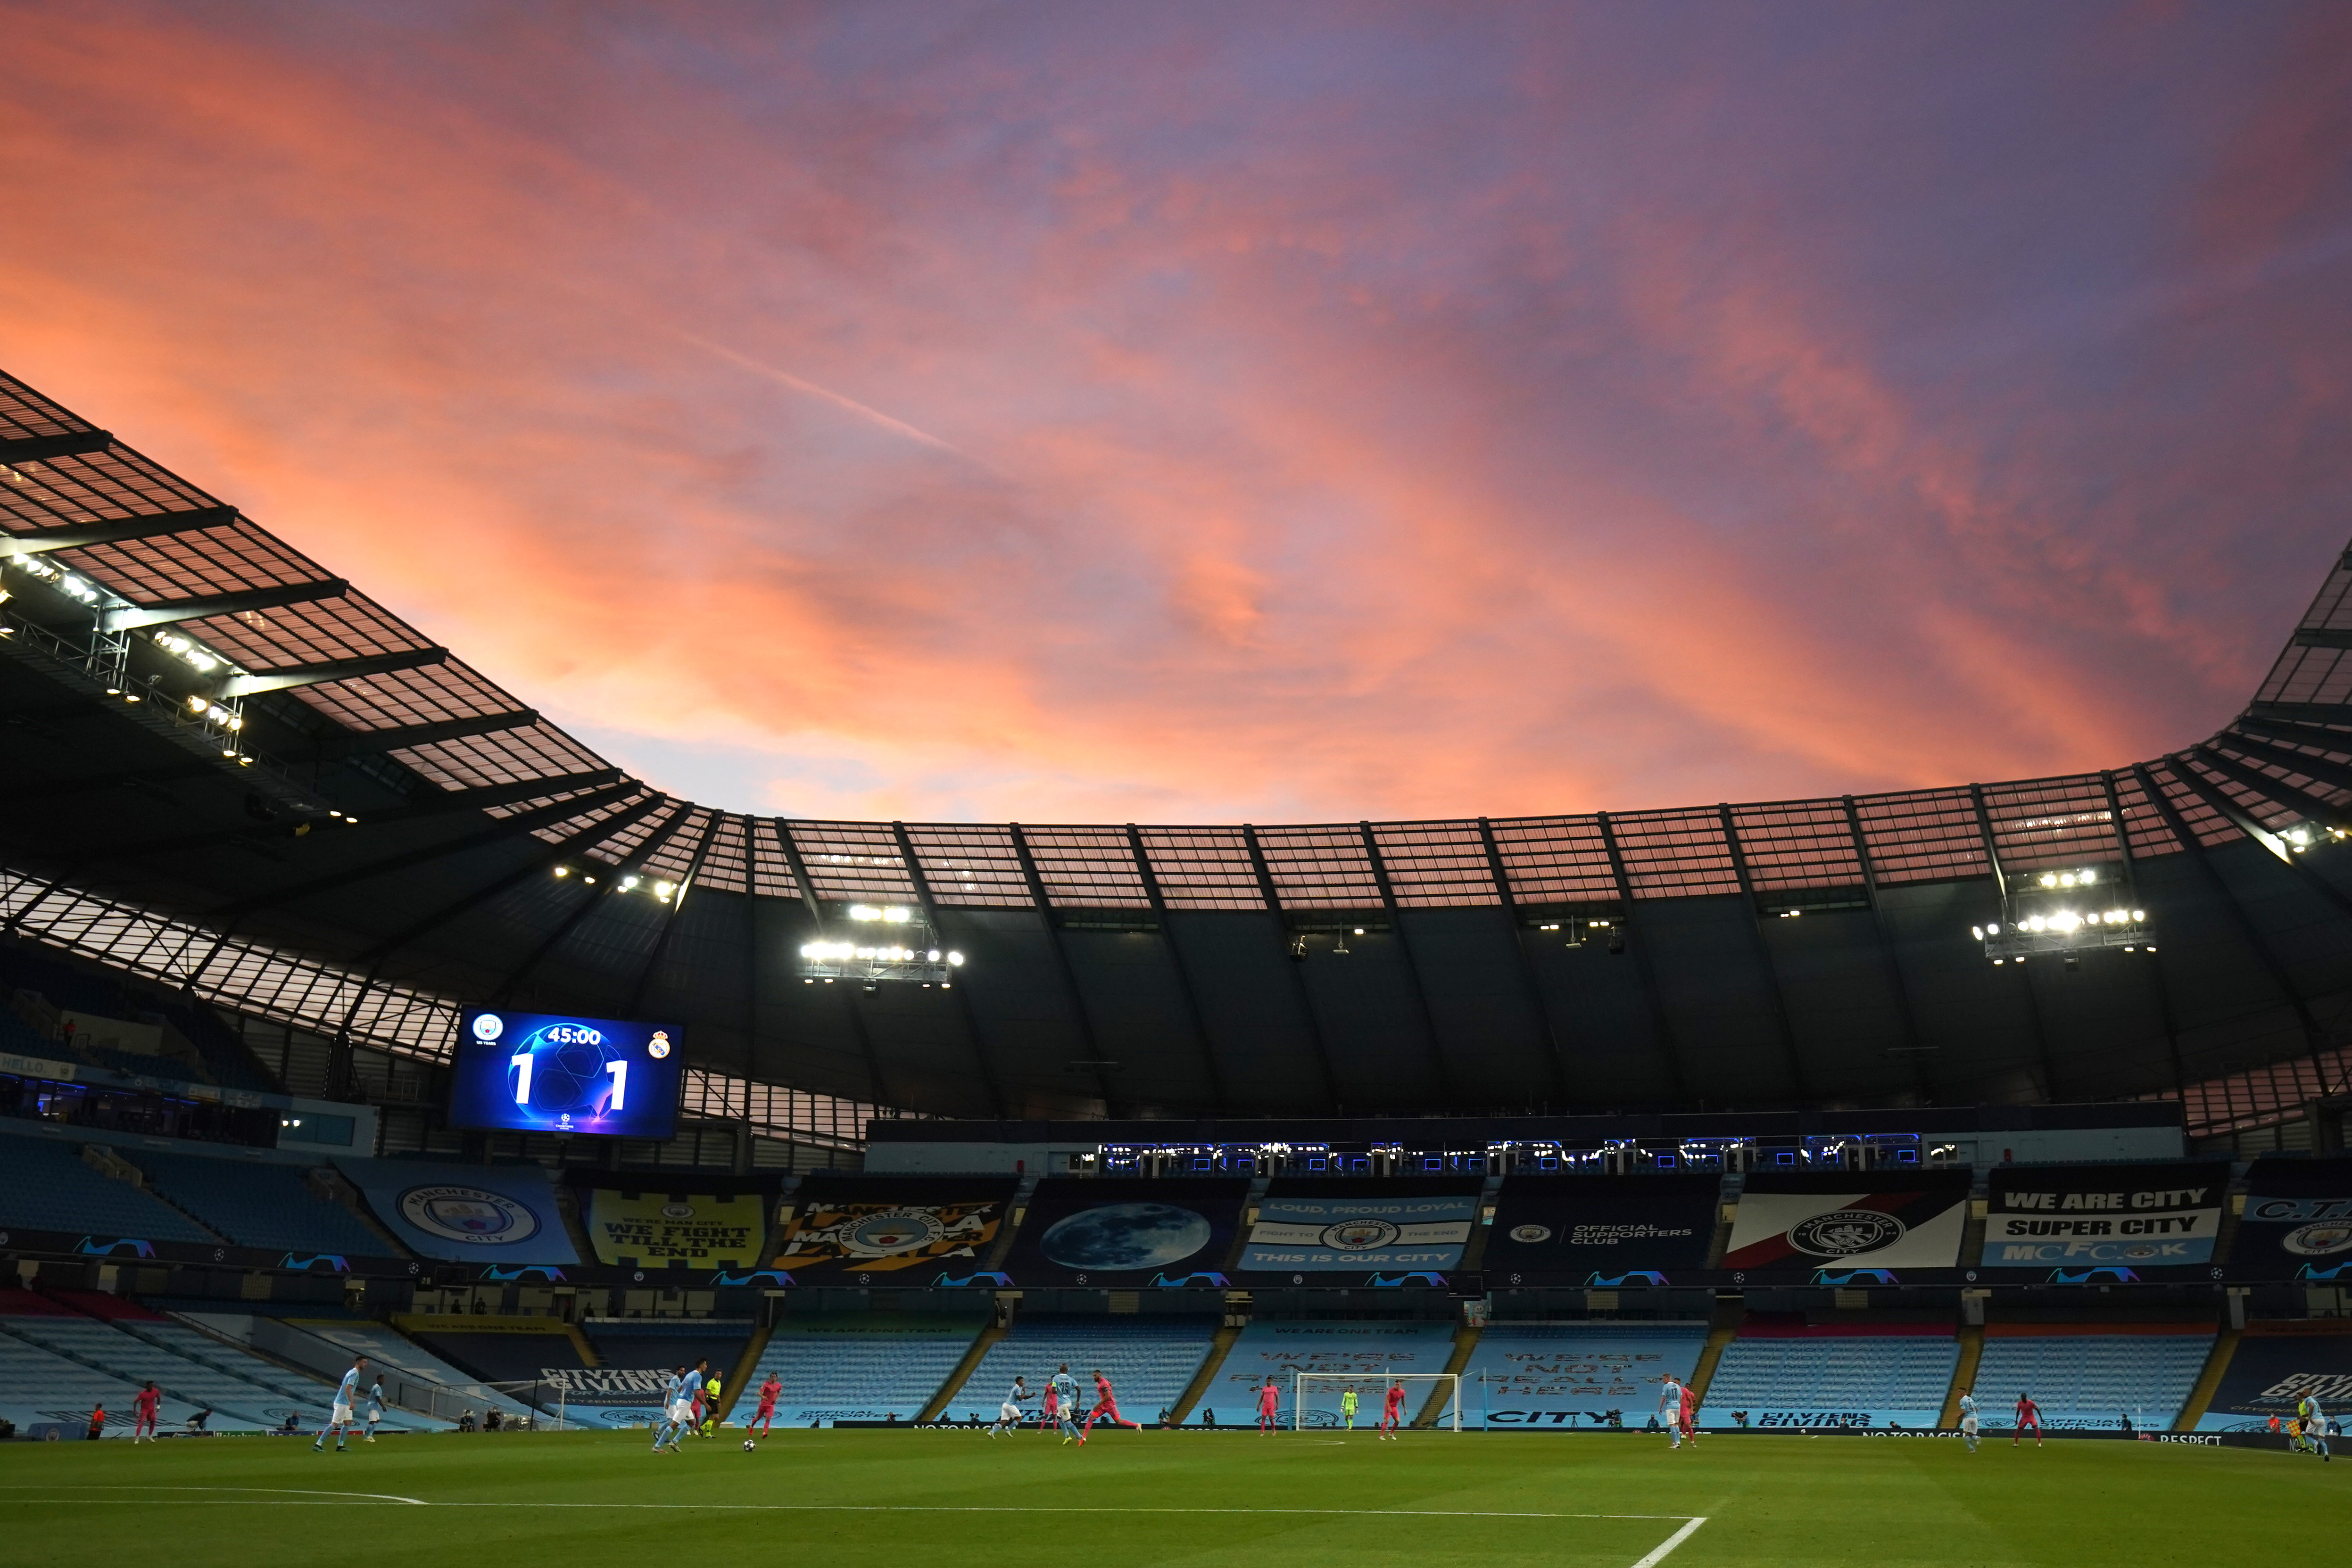
<path id="1" fill-rule="evenodd" d="M 978 1333 L 976 1316 L 920 1312 L 786 1319 L 760 1352 L 750 1387 L 757 1389 L 774 1373 L 783 1385 L 776 1420 L 793 1427 L 891 1418 L 910 1422 L 964 1361 Z M 1011 1382 L 1011 1373 L 1004 1382 Z M 967 1387 L 981 1392 L 978 1382 Z M 1002 1389 L 985 1401 L 988 1415 L 995 1415 L 997 1399 Z M 750 1406 L 736 1403 L 734 1420 L 750 1420 Z"/>

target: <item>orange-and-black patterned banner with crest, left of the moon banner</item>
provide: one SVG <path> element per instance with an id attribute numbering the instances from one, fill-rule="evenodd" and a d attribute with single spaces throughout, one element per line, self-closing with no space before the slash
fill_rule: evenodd
<path id="1" fill-rule="evenodd" d="M 1016 1185 L 1011 1175 L 811 1175 L 793 1194 L 774 1267 L 793 1284 L 971 1284 Z"/>

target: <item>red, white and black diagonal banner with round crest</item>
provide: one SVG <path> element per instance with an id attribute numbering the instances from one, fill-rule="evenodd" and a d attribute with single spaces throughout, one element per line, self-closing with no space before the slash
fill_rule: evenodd
<path id="1" fill-rule="evenodd" d="M 1959 1265 L 1969 1171 L 1759 1171 L 1740 1192 L 1722 1267 L 1811 1272 L 1820 1284 L 1903 1284 L 1896 1269 Z"/>

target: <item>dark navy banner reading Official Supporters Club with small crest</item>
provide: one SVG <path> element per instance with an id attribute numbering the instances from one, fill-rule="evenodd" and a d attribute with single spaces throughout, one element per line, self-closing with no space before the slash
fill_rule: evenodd
<path id="1" fill-rule="evenodd" d="M 1491 1284 L 1663 1286 L 1708 1262 L 1715 1175 L 1505 1175 Z"/>

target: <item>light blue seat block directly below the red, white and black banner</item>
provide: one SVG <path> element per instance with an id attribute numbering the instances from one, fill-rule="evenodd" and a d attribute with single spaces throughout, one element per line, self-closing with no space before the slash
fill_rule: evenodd
<path id="1" fill-rule="evenodd" d="M 1757 1321 L 1764 1319 L 1764 1321 Z M 1703 1427 L 1933 1427 L 1959 1366 L 1950 1328 L 1802 1324 L 1750 1314 L 1724 1349 Z"/>

